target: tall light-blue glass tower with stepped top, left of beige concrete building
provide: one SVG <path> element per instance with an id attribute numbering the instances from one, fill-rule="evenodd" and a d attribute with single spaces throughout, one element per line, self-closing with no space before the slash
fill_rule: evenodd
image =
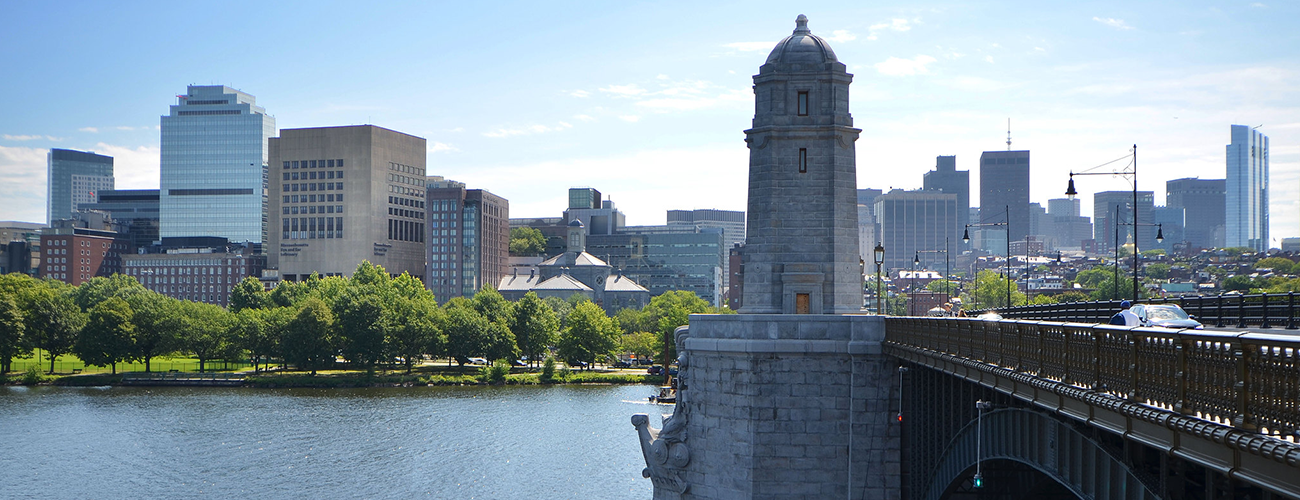
<path id="1" fill-rule="evenodd" d="M 190 86 L 161 122 L 159 235 L 265 242 L 276 118 L 248 94 Z"/>

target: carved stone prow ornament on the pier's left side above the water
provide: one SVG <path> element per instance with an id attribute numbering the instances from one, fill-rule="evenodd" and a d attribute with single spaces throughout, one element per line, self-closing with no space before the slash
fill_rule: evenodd
<path id="1" fill-rule="evenodd" d="M 632 426 L 637 427 L 641 455 L 646 461 L 641 477 L 650 478 L 656 492 L 675 494 L 677 497 L 690 488 L 690 484 L 681 478 L 681 470 L 690 464 L 690 448 L 686 445 L 686 422 L 690 419 L 688 404 L 690 396 L 686 391 L 688 336 L 690 332 L 685 326 L 673 331 L 673 344 L 677 345 L 677 403 L 672 408 L 672 416 L 664 418 L 663 429 L 650 427 L 650 417 L 645 413 L 632 416 Z"/>

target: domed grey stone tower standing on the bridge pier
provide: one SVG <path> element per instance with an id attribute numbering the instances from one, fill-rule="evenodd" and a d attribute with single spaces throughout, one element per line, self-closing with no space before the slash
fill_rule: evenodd
<path id="1" fill-rule="evenodd" d="M 741 313 L 862 309 L 853 75 L 800 16 L 754 75 Z"/>

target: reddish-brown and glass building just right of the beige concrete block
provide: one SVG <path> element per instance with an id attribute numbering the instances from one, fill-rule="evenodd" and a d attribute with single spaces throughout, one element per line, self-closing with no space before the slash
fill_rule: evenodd
<path id="1" fill-rule="evenodd" d="M 425 287 L 446 301 L 498 286 L 510 268 L 510 203 L 485 190 L 430 177 Z"/>

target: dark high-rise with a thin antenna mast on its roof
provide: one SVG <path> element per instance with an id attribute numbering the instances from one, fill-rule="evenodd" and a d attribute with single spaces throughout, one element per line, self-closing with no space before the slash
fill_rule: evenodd
<path id="1" fill-rule="evenodd" d="M 1011 242 L 1023 240 L 1030 234 L 1028 151 L 985 151 L 980 155 L 979 208 L 984 217 L 1009 210 L 1006 234 Z"/>

